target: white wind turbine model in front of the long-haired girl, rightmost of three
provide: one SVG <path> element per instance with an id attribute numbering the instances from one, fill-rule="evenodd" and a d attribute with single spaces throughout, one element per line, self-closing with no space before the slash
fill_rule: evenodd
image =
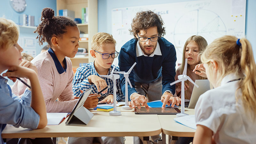
<path id="1" fill-rule="evenodd" d="M 184 67 L 184 70 L 183 70 L 183 73 L 182 75 L 179 75 L 178 76 L 178 80 L 175 81 L 175 82 L 172 82 L 170 85 L 173 85 L 173 84 L 176 84 L 176 83 L 179 83 L 181 82 L 181 113 L 177 114 L 176 116 L 177 117 L 180 117 L 180 116 L 187 116 L 188 114 L 185 114 L 185 96 L 184 96 L 184 82 L 186 80 L 189 80 L 192 84 L 194 84 L 197 88 L 199 87 L 197 84 L 195 84 L 193 82 L 193 80 L 187 76 L 187 66 L 188 66 L 188 59 L 185 59 L 185 67 Z"/>

